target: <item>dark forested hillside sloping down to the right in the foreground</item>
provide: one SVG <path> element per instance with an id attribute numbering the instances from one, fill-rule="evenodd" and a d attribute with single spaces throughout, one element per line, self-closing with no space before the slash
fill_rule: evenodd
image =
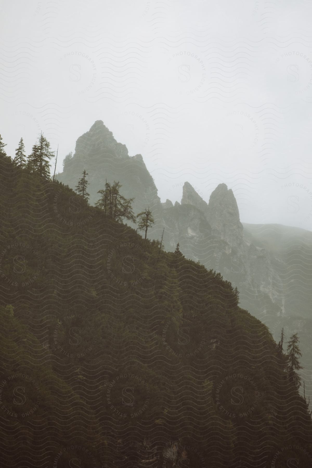
<path id="1" fill-rule="evenodd" d="M 311 466 L 299 348 L 220 273 L 3 145 L 0 219 L 1 466 Z"/>

